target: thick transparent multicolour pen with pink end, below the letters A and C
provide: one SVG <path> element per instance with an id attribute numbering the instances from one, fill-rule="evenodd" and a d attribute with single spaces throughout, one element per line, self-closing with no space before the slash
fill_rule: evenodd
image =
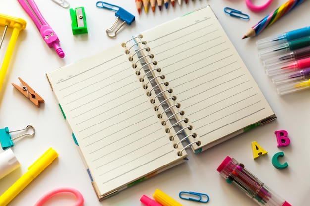
<path id="1" fill-rule="evenodd" d="M 227 183 L 236 185 L 260 206 L 291 206 L 233 158 L 227 156 L 217 171 Z"/>

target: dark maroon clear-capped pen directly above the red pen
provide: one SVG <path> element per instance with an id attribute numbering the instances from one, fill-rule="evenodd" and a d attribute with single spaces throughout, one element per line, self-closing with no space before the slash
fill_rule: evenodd
<path id="1" fill-rule="evenodd" d="M 270 67 L 276 64 L 281 64 L 293 60 L 303 59 L 310 57 L 310 46 L 291 51 L 276 57 L 264 59 L 262 61 L 264 67 Z"/>

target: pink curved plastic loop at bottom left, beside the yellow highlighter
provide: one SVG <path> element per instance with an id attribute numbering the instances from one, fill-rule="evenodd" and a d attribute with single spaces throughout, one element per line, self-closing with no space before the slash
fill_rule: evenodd
<path id="1" fill-rule="evenodd" d="M 77 201 L 74 205 L 72 206 L 83 206 L 84 203 L 84 198 L 82 196 L 82 194 L 74 189 L 74 188 L 69 188 L 69 187 L 63 187 L 63 188 L 58 188 L 58 189 L 54 189 L 46 194 L 44 194 L 36 203 L 34 206 L 42 206 L 48 199 L 50 199 L 52 196 L 57 195 L 59 193 L 72 193 L 76 196 Z"/>

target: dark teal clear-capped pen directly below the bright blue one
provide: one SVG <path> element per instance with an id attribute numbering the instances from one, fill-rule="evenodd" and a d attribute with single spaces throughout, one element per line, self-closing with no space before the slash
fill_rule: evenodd
<path id="1" fill-rule="evenodd" d="M 310 46 L 310 36 L 262 49 L 258 52 L 258 56 L 261 59 L 271 58 L 306 46 Z"/>

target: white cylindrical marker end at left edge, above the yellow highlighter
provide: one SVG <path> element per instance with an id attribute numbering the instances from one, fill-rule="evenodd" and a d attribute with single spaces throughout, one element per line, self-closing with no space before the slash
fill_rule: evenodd
<path id="1" fill-rule="evenodd" d="M 0 153 L 0 179 L 20 167 L 11 148 Z"/>

